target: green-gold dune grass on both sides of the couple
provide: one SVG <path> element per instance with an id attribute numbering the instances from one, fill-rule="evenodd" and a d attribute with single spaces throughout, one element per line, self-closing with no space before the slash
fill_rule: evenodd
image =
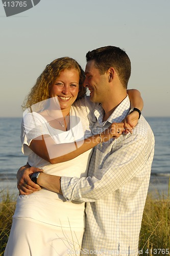
<path id="1" fill-rule="evenodd" d="M 155 197 L 155 194 L 157 196 Z M 0 191 L 0 256 L 3 255 L 16 206 L 16 196 Z M 140 255 L 170 255 L 170 197 L 149 193 L 139 237 Z"/>

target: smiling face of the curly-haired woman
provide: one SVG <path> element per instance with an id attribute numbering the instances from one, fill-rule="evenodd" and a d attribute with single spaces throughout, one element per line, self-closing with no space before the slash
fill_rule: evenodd
<path id="1" fill-rule="evenodd" d="M 54 82 L 50 97 L 57 97 L 61 110 L 70 109 L 79 93 L 79 72 L 76 69 L 65 69 Z"/>

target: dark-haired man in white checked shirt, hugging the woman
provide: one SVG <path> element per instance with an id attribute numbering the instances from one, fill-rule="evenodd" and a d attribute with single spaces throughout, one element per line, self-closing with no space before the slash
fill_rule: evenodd
<path id="1" fill-rule="evenodd" d="M 94 110 L 97 121 L 92 132 L 98 134 L 129 113 L 131 63 L 125 51 L 113 46 L 88 52 L 86 59 L 85 86 L 90 100 L 101 103 Z M 138 255 L 153 156 L 154 135 L 141 116 L 133 134 L 101 141 L 94 148 L 87 178 L 49 178 L 40 173 L 40 186 L 49 189 L 48 184 L 55 179 L 55 192 L 67 200 L 86 202 L 83 254 Z"/>

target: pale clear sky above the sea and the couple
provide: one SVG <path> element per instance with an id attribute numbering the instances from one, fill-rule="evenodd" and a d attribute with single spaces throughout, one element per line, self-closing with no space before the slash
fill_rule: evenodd
<path id="1" fill-rule="evenodd" d="M 85 55 L 112 45 L 131 59 L 129 89 L 142 114 L 170 116 L 169 0 L 41 0 L 6 17 L 0 2 L 0 117 L 21 117 L 21 104 L 45 66 L 62 56 L 85 69 Z"/>

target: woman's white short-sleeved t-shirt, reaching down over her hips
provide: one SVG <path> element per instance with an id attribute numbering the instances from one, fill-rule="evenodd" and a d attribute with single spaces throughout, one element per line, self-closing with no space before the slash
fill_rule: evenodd
<path id="1" fill-rule="evenodd" d="M 22 128 L 21 141 L 22 152 L 28 155 L 29 164 L 42 168 L 44 173 L 51 175 L 87 177 L 91 150 L 75 159 L 51 164 L 37 156 L 28 146 L 32 139 L 43 134 L 50 135 L 58 144 L 80 141 L 91 136 L 90 128 L 95 122 L 95 117 L 91 115 L 90 108 L 94 109 L 88 97 L 76 101 L 71 106 L 70 130 L 66 132 L 51 127 L 40 114 L 26 111 L 23 115 L 22 127 L 25 129 Z M 84 227 L 84 203 L 68 202 L 62 195 L 42 188 L 31 195 L 18 197 L 15 217 L 33 218 L 59 226 Z"/>

